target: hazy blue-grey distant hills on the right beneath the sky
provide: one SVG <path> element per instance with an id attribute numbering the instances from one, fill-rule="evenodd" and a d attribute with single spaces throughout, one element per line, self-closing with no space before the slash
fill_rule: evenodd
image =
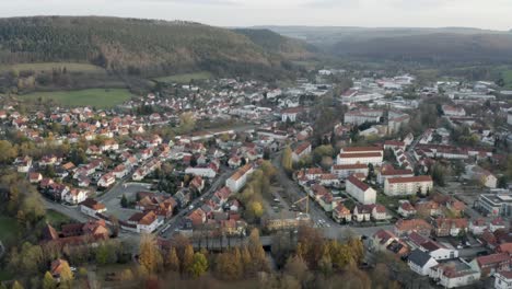
<path id="1" fill-rule="evenodd" d="M 428 62 L 512 61 L 512 34 L 468 27 L 265 26 L 344 57 Z"/>

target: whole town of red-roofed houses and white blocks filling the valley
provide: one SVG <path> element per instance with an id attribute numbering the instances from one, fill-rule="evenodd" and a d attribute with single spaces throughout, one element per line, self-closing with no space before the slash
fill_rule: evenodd
<path id="1" fill-rule="evenodd" d="M 45 281 L 71 270 L 74 285 L 113 288 L 140 274 L 126 264 L 149 264 L 149 238 L 165 259 L 188 243 L 197 266 L 256 243 L 281 268 L 292 254 L 280 240 L 317 234 L 361 242 L 358 268 L 385 264 L 406 288 L 512 288 L 511 94 L 488 80 L 324 68 L 282 85 L 165 83 L 112 108 L 5 96 L 2 194 L 35 233 L 0 252 L 35 271 L 44 262 L 23 258 L 51 248 Z M 59 221 L 38 222 L 45 210 Z M 302 257 L 325 269 L 322 254 Z M 125 267 L 94 273 L 91 259 Z M 329 259 L 329 271 L 350 263 Z"/>

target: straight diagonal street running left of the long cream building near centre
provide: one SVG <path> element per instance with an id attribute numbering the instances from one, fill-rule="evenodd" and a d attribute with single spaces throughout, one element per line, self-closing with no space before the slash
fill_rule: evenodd
<path id="1" fill-rule="evenodd" d="M 226 169 L 226 171 L 220 175 L 219 177 L 213 181 L 211 184 L 210 188 L 201 195 L 201 198 L 196 198 L 190 203 L 189 206 L 193 206 L 194 208 L 197 208 L 198 205 L 202 204 L 203 200 L 207 200 L 211 198 L 213 193 L 216 193 L 219 188 L 221 188 L 224 184 L 225 181 L 234 173 L 233 170 Z M 202 200 L 201 200 L 202 199 Z M 190 210 L 187 208 L 182 209 L 176 216 L 167 220 L 163 226 L 161 226 L 158 230 L 156 233 L 161 234 L 162 230 L 168 226 L 168 228 L 165 230 L 165 233 L 162 233 L 161 235 L 165 239 L 171 238 L 171 235 L 174 233 L 174 231 L 181 226 L 181 220 L 183 219 L 184 216 L 186 216 Z"/>

